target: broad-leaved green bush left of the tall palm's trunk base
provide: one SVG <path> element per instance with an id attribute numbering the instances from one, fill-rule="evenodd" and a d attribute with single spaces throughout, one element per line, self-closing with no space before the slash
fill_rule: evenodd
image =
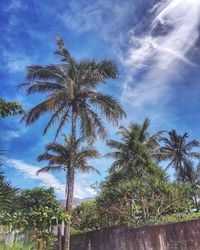
<path id="1" fill-rule="evenodd" d="M 52 240 L 50 226 L 68 221 L 68 216 L 56 200 L 53 188 L 35 188 L 24 190 L 17 197 L 15 207 L 3 213 L 0 222 L 4 226 L 12 226 L 19 232 L 35 231 L 36 241 L 45 244 Z"/>

